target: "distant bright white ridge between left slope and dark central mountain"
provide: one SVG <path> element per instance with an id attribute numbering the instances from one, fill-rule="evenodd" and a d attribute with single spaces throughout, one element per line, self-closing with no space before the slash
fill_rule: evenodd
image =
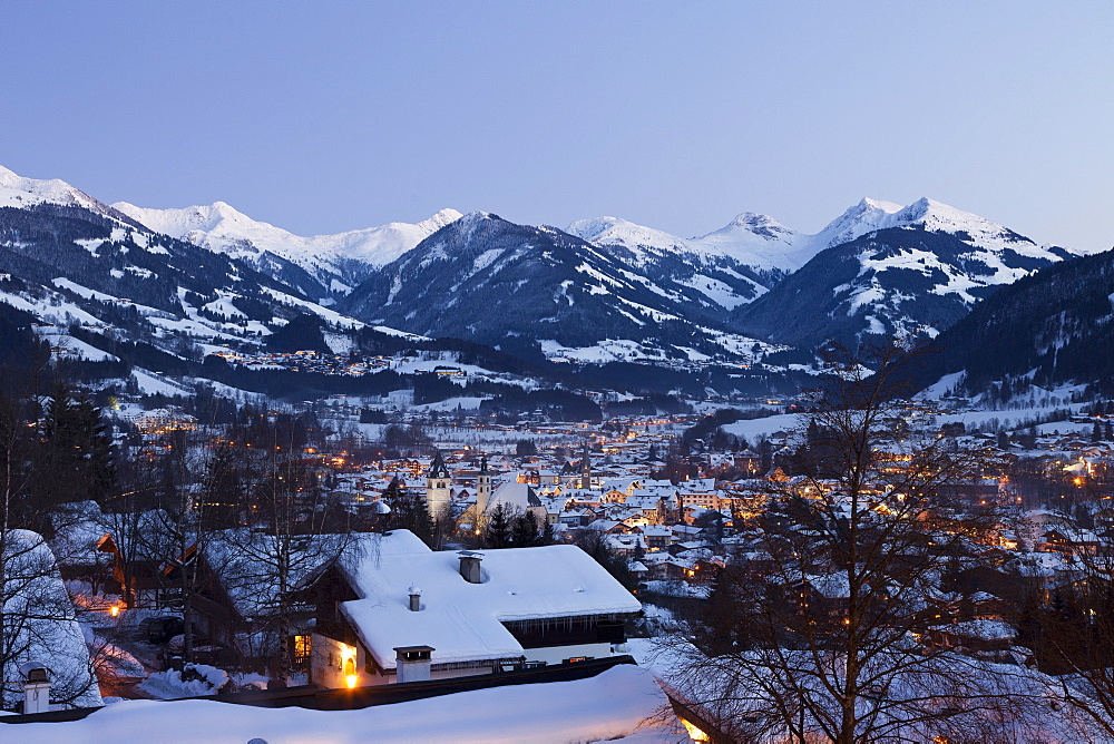
<path id="1" fill-rule="evenodd" d="M 295 280 L 285 270 L 297 266 L 320 283 L 324 294 L 346 294 L 372 268 L 391 263 L 460 217 L 456 209 L 442 209 L 417 224 L 395 222 L 303 237 L 252 219 L 224 202 L 180 209 L 149 209 L 127 202 L 113 207 L 157 233 L 241 258 L 272 276 Z M 314 287 L 303 290 L 312 293 Z"/>

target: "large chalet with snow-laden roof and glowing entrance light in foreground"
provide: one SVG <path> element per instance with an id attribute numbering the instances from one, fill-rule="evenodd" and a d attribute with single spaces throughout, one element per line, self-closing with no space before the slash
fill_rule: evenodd
<path id="1" fill-rule="evenodd" d="M 412 547 L 339 565 L 319 594 L 313 682 L 382 685 L 605 657 L 642 608 L 575 546 Z"/>

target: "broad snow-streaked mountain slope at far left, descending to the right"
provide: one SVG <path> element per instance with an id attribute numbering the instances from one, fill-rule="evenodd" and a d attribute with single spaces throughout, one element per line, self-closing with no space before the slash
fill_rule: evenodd
<path id="1" fill-rule="evenodd" d="M 363 327 L 248 262 L 149 229 L 65 182 L 6 169 L 0 302 L 57 329 L 62 345 L 88 361 L 116 359 L 90 345 L 95 335 L 113 346 L 153 345 L 173 365 L 211 344 L 257 346 L 304 314 L 331 329 Z M 175 354 L 178 362 L 169 361 Z"/>

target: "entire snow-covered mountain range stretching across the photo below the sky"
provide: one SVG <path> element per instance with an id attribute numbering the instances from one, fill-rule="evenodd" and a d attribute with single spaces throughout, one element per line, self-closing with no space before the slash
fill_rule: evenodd
<path id="1" fill-rule="evenodd" d="M 257 341 L 309 313 L 333 329 L 540 344 L 551 358 L 740 360 L 764 347 L 754 339 L 931 334 L 994 287 L 1078 253 L 927 198 L 862 199 L 817 234 L 753 213 L 682 238 L 616 217 L 566 233 L 446 209 L 302 237 L 221 202 L 109 206 L 0 168 L 0 273 L 30 287 L 12 304 L 70 303 L 72 317 L 99 317 L 89 303 L 133 307 L 155 336 L 214 342 Z"/>

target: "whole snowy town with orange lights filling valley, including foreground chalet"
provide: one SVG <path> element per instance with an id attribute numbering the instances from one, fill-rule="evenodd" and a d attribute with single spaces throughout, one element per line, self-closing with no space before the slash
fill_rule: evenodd
<path id="1" fill-rule="evenodd" d="M 732 637 L 903 636 L 952 672 L 1013 670 L 1030 692 L 1089 670 L 1094 646 L 1061 638 L 1061 618 L 1100 611 L 1114 404 L 1065 399 L 1013 429 L 961 399 L 877 404 L 886 433 L 871 435 L 869 480 L 849 487 L 847 410 L 807 394 L 563 422 L 467 401 L 431 410 L 412 391 L 281 408 L 120 392 L 100 409 L 59 383 L 18 424 L 33 432 L 26 457 L 55 469 L 23 495 L 55 495 L 21 516 L 46 541 L 12 538 L 30 571 L 12 599 L 32 586 L 50 598 L 25 620 L 52 639 L 31 644 L 49 673 L 6 679 L 4 707 L 461 693 L 491 675 L 483 685 L 637 663 L 695 741 L 737 741 L 762 695 L 710 704 L 700 687 L 722 681 L 693 673 L 710 655 L 747 669 Z M 38 453 L 55 440 L 76 458 Z M 856 525 L 886 549 L 858 587 L 839 557 Z M 947 722 L 974 725 L 964 718 Z"/>

